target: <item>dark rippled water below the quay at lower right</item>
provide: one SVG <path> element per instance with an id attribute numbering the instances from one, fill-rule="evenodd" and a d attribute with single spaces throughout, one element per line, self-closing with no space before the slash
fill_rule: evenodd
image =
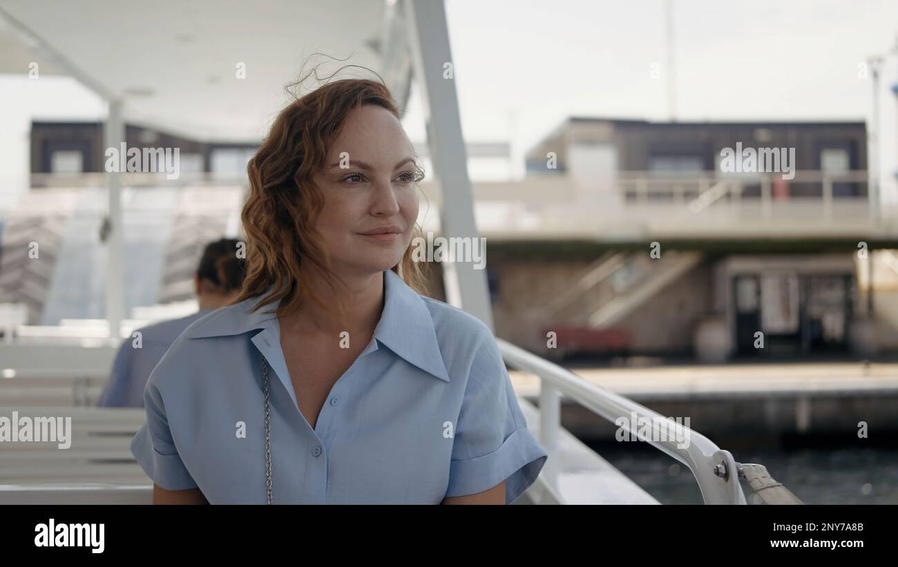
<path id="1" fill-rule="evenodd" d="M 688 467 L 646 443 L 587 442 L 662 504 L 701 504 Z M 772 444 L 771 444 L 772 445 Z M 898 447 L 821 447 L 793 443 L 775 449 L 730 449 L 736 462 L 758 463 L 806 504 L 898 504 Z M 761 504 L 742 482 L 749 504 Z"/>

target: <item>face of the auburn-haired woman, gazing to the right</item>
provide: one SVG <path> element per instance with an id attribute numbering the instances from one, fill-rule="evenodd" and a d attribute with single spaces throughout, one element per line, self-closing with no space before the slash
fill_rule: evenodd
<path id="1" fill-rule="evenodd" d="M 414 152 L 389 110 L 353 110 L 313 181 L 324 196 L 316 228 L 338 275 L 368 275 L 395 266 L 418 220 Z M 374 234 L 375 231 L 386 231 Z"/>

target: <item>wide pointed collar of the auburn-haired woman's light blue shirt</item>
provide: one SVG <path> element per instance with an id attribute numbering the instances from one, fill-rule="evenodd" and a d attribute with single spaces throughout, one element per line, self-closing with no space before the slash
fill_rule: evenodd
<path id="1" fill-rule="evenodd" d="M 446 371 L 440 352 L 434 320 L 424 299 L 392 270 L 384 270 L 383 288 L 386 299 L 381 319 L 374 328 L 374 339 L 406 362 L 448 382 L 449 372 Z M 185 332 L 185 336 L 207 338 L 241 335 L 254 329 L 274 327 L 277 325 L 276 311 L 280 301 L 272 301 L 251 312 L 252 306 L 259 300 L 260 296 L 251 297 L 216 310 L 201 318 Z"/>

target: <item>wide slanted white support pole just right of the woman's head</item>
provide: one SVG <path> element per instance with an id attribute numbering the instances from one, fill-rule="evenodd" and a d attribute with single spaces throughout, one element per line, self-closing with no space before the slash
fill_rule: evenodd
<path id="1" fill-rule="evenodd" d="M 427 142 L 436 177 L 443 192 L 440 224 L 445 238 L 471 238 L 479 242 L 474 222 L 474 199 L 462 136 L 455 72 L 443 0 L 403 0 L 412 55 L 412 73 L 421 89 L 427 120 Z M 492 306 L 485 270 L 474 262 L 456 262 L 454 277 L 461 305 L 493 329 Z M 453 270 L 444 277 L 452 278 Z M 449 281 L 446 287 L 452 288 Z"/>

